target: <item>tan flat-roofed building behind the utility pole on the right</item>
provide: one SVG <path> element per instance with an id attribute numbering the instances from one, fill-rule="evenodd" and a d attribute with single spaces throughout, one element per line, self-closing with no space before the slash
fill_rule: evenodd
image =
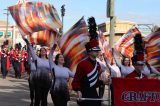
<path id="1" fill-rule="evenodd" d="M 137 26 L 143 36 L 152 33 L 154 28 L 153 24 L 136 24 L 130 21 L 116 21 L 114 43 L 116 43 L 123 36 L 123 34 L 125 34 L 133 26 Z M 106 39 L 109 41 L 110 22 L 99 24 L 98 29 L 103 32 Z"/>

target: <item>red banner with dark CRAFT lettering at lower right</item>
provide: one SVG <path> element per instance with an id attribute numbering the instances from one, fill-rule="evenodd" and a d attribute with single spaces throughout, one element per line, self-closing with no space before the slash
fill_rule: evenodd
<path id="1" fill-rule="evenodd" d="M 160 80 L 113 78 L 115 106 L 160 106 Z"/>

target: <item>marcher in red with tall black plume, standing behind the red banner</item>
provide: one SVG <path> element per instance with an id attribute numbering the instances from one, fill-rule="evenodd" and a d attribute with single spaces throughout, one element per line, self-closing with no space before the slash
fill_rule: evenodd
<path id="1" fill-rule="evenodd" d="M 143 45 L 144 43 L 141 34 L 136 34 L 134 37 L 134 53 L 133 57 L 131 58 L 135 70 L 128 74 L 126 78 L 147 78 L 147 76 L 142 73 L 145 65 Z"/>

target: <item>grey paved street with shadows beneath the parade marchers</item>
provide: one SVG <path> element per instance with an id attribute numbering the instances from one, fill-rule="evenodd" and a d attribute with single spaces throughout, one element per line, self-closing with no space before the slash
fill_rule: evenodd
<path id="1" fill-rule="evenodd" d="M 107 98 L 107 89 L 104 98 Z M 22 79 L 14 78 L 14 73 L 10 71 L 6 79 L 2 79 L 0 74 L 0 106 L 29 106 L 30 96 L 27 81 L 27 74 L 22 76 Z M 48 106 L 53 106 L 51 96 L 48 95 Z M 77 106 L 76 94 L 71 91 L 71 101 L 68 106 Z M 102 106 L 107 106 L 107 101 L 102 103 Z"/>

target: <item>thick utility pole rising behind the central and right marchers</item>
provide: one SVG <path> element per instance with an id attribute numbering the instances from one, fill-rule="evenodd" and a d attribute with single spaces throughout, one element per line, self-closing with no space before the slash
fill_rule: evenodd
<path id="1" fill-rule="evenodd" d="M 114 3 L 115 3 L 115 0 L 107 0 L 107 17 L 110 18 L 109 44 L 110 44 L 111 47 L 114 44 L 114 36 L 115 36 L 116 17 L 114 15 Z"/>

